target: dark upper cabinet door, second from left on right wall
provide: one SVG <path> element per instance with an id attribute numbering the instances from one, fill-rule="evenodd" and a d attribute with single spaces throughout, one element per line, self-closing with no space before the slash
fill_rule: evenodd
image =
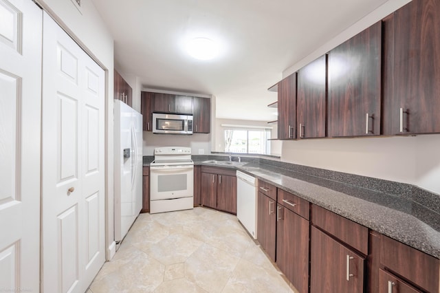
<path id="1" fill-rule="evenodd" d="M 298 71 L 298 138 L 324 138 L 326 135 L 327 55 Z"/>

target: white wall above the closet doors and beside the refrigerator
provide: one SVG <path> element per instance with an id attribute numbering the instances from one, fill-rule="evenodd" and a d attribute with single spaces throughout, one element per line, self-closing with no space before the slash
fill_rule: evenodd
<path id="1" fill-rule="evenodd" d="M 113 242 L 113 38 L 91 1 L 81 1 L 81 12 L 71 0 L 36 0 L 83 50 L 106 71 L 106 223 L 107 259 Z"/>

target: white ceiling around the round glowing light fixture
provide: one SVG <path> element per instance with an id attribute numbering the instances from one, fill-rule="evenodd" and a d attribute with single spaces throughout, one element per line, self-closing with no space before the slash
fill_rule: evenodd
<path id="1" fill-rule="evenodd" d="M 217 118 L 276 120 L 267 88 L 386 0 L 93 0 L 115 40 L 115 67 L 143 87 L 212 94 Z M 187 39 L 221 43 L 198 61 Z"/>

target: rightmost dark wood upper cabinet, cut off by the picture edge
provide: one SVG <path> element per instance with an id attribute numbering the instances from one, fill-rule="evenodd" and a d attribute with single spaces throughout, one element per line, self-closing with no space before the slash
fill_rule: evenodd
<path id="1" fill-rule="evenodd" d="M 383 134 L 440 133 L 440 1 L 384 19 Z"/>

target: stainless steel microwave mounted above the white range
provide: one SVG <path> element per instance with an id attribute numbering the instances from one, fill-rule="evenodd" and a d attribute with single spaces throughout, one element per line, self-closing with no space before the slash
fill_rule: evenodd
<path id="1" fill-rule="evenodd" d="M 153 113 L 153 133 L 192 134 L 192 115 Z"/>

